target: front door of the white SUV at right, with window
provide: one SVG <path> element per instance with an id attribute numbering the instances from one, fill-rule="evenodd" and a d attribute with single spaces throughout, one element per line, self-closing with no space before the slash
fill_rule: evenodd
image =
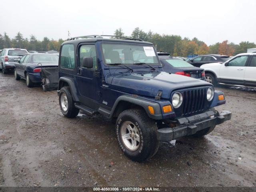
<path id="1" fill-rule="evenodd" d="M 244 72 L 248 55 L 240 55 L 220 67 L 220 82 L 230 84 L 244 84 Z"/>

